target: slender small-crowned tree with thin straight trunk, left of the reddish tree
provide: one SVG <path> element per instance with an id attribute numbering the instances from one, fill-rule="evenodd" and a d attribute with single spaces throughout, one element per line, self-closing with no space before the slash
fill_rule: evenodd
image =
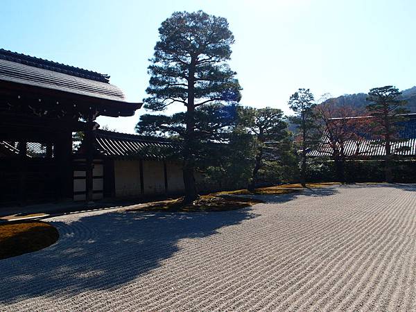
<path id="1" fill-rule="evenodd" d="M 313 94 L 310 89 L 298 89 L 291 95 L 288 105 L 295 112 L 291 119 L 293 123 L 299 125 L 300 139 L 302 145 L 301 158 L 301 184 L 306 187 L 306 154 L 308 148 L 311 148 L 315 132 L 315 117 Z"/>

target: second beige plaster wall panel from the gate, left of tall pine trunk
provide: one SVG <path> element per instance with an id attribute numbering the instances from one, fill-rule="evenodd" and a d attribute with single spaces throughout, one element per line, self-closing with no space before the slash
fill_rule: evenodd
<path id="1" fill-rule="evenodd" d="M 145 195 L 165 193 L 163 162 L 143 161 L 143 184 Z"/>

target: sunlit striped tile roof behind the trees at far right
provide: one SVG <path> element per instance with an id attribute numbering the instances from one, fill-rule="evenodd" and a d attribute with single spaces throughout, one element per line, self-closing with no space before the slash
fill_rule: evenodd
<path id="1" fill-rule="evenodd" d="M 416 155 L 416 114 L 408 114 L 409 120 L 399 123 L 399 140 L 392 143 L 392 153 L 403 156 Z M 365 117 L 363 117 L 365 118 Z M 345 144 L 345 155 L 377 157 L 385 155 L 385 147 L 376 139 L 362 141 L 347 141 Z M 328 144 L 322 142 L 316 150 L 310 150 L 308 156 L 325 157 L 331 155 L 332 150 Z"/>

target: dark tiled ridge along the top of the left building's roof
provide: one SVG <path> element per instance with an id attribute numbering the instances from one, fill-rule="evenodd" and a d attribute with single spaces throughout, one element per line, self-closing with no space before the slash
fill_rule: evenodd
<path id="1" fill-rule="evenodd" d="M 103 83 L 109 83 L 110 80 L 109 75 L 98 73 L 97 71 L 90 71 L 88 69 L 67 65 L 60 62 L 54 62 L 52 60 L 46 60 L 43 58 L 37 58 L 35 56 L 13 52 L 2 48 L 0 48 L 0 59 L 26 64 L 31 67 L 48 69 L 50 71 L 57 71 L 59 73 L 66 73 L 67 75 L 80 78 L 101 81 Z"/>

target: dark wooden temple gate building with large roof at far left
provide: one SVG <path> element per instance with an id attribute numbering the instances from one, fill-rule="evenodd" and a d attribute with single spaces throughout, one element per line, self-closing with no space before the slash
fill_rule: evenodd
<path id="1" fill-rule="evenodd" d="M 73 200 L 81 192 L 85 200 L 97 197 L 94 189 L 100 182 L 94 173 L 98 170 L 94 131 L 99 125 L 95 120 L 98 116 L 132 116 L 141 107 L 141 103 L 125 101 L 121 89 L 110 84 L 109 78 L 0 49 L 2 205 Z M 76 161 L 73 132 L 84 133 L 83 155 Z M 74 180 L 80 172 L 85 182 L 82 187 Z"/>

